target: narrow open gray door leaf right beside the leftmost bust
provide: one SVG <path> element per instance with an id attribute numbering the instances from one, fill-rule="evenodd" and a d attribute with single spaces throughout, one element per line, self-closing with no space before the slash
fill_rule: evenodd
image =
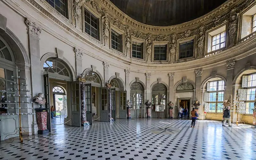
<path id="1" fill-rule="evenodd" d="M 49 75 L 44 75 L 44 97 L 46 100 L 45 108 L 47 108 L 47 129 L 49 132 L 52 131 L 51 126 L 51 107 L 50 107 L 50 82 Z"/>

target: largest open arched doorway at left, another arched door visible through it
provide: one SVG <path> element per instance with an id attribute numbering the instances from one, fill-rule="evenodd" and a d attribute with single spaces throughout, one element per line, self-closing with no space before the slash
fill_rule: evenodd
<path id="1" fill-rule="evenodd" d="M 51 132 L 55 124 L 63 124 L 71 119 L 72 126 L 81 126 L 80 124 L 80 99 L 79 85 L 73 82 L 73 75 L 70 67 L 64 60 L 57 58 L 48 58 L 44 61 L 44 93 L 46 99 L 46 108 L 49 115 L 47 116 L 47 128 Z M 56 98 L 59 95 L 59 98 Z M 62 97 L 62 99 L 61 99 Z M 72 97 L 72 98 L 71 98 Z M 56 103 L 63 104 L 63 110 L 59 110 Z M 54 106 L 57 115 L 60 114 L 60 119 L 51 121 L 51 106 Z M 59 113 L 60 112 L 60 113 Z M 61 116 L 63 114 L 63 116 Z M 57 117 L 55 117 L 57 118 Z M 51 125 L 50 125 L 51 124 Z M 58 132 L 58 130 L 56 130 Z"/>

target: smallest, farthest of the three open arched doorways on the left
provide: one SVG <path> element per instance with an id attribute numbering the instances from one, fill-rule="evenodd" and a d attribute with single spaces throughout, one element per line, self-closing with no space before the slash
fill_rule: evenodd
<path id="1" fill-rule="evenodd" d="M 112 118 L 126 119 L 126 91 L 124 85 L 118 78 L 113 78 L 111 84 Z"/>

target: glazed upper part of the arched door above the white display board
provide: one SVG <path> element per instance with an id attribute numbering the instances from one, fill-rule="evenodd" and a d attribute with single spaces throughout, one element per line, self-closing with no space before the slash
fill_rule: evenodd
<path id="1" fill-rule="evenodd" d="M 155 84 L 152 88 L 152 104 L 164 105 L 166 107 L 167 89 L 164 84 Z"/>

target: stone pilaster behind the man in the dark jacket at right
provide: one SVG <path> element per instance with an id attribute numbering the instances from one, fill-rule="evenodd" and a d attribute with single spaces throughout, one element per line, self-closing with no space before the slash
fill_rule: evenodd
<path id="1" fill-rule="evenodd" d="M 232 110 L 232 104 L 233 104 L 233 95 L 232 95 L 232 85 L 233 85 L 233 76 L 234 76 L 234 68 L 235 68 L 235 60 L 229 61 L 226 63 L 227 67 L 227 84 L 226 84 L 226 92 L 224 94 L 224 100 L 228 100 L 230 104 L 230 110 Z M 235 92 L 234 92 L 235 93 Z M 230 116 L 230 120 L 232 122 L 233 120 L 233 114 Z"/>

